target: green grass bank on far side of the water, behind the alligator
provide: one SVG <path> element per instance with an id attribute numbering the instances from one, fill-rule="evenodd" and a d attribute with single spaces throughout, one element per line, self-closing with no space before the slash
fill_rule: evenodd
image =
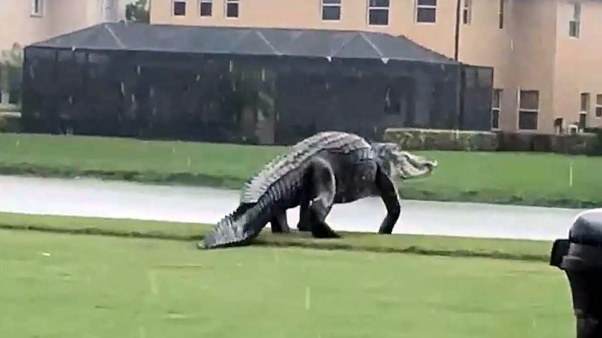
<path id="1" fill-rule="evenodd" d="M 96 176 L 240 188 L 284 147 L 0 134 L 0 173 Z M 416 152 L 439 168 L 403 198 L 602 206 L 602 158 L 547 153 Z M 573 184 L 569 172 L 573 167 Z"/>

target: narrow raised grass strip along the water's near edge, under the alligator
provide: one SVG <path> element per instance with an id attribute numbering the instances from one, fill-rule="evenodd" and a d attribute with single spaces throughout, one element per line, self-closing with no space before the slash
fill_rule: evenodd
<path id="1" fill-rule="evenodd" d="M 0 229 L 34 232 L 104 235 L 131 238 L 172 239 L 196 244 L 213 229 L 209 224 L 106 218 L 38 216 L 0 213 Z M 379 235 L 339 232 L 338 239 L 316 239 L 309 233 L 273 234 L 269 227 L 253 246 L 314 248 L 372 253 L 414 253 L 429 256 L 489 257 L 506 260 L 548 262 L 551 242 L 510 239 L 462 238 L 452 236 Z"/>

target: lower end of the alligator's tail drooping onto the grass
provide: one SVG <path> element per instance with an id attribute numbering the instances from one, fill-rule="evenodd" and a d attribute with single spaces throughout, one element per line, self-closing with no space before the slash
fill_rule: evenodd
<path id="1" fill-rule="evenodd" d="M 270 214 L 264 200 L 240 204 L 234 212 L 222 218 L 197 247 L 213 249 L 249 244 L 269 220 Z"/>

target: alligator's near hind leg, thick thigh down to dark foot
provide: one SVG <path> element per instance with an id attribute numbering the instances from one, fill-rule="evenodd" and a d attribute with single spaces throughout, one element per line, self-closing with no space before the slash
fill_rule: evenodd
<path id="1" fill-rule="evenodd" d="M 336 194 L 335 174 L 332 167 L 321 158 L 312 161 L 312 191 L 317 192 L 311 206 L 303 217 L 307 217 L 311 226 L 311 233 L 316 238 L 338 238 L 340 237 L 334 230 L 326 224 L 326 216 L 332 209 L 332 204 Z"/>

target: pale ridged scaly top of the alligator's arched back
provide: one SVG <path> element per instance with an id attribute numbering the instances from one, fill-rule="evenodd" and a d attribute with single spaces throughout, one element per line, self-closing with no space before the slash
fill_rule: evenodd
<path id="1" fill-rule="evenodd" d="M 370 144 L 355 134 L 345 132 L 320 132 L 300 141 L 288 153 L 276 157 L 263 170 L 248 180 L 242 189 L 240 203 L 256 203 L 270 186 L 291 170 L 299 168 L 321 150 L 348 153 L 370 148 Z"/>

